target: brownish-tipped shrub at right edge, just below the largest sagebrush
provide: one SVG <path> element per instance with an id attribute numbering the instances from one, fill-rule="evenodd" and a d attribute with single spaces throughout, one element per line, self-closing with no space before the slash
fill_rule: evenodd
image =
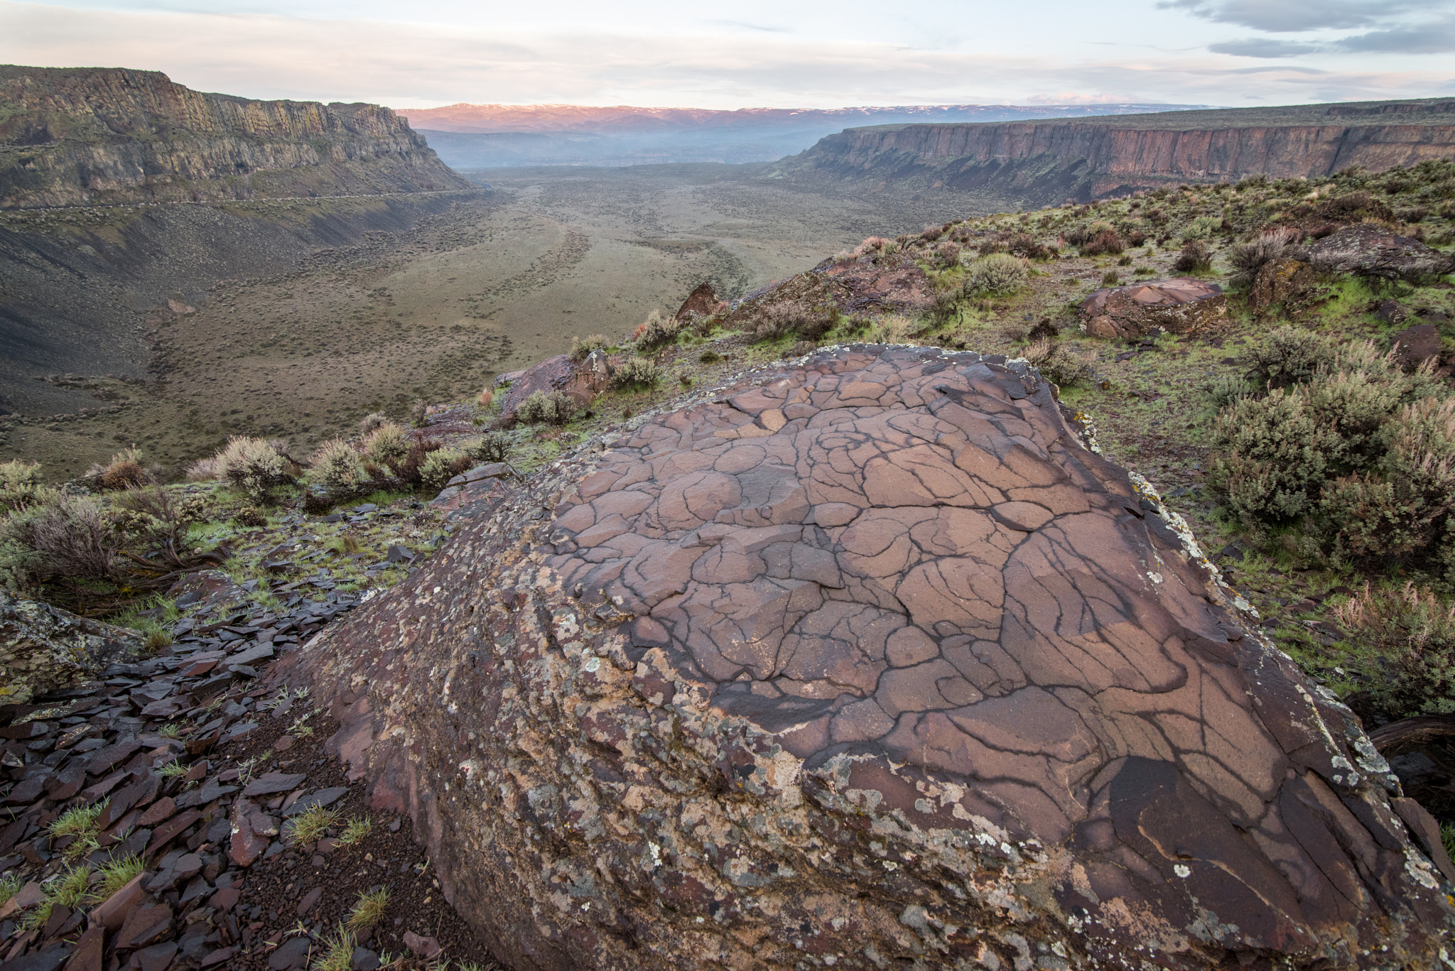
<path id="1" fill-rule="evenodd" d="M 1390 718 L 1455 712 L 1455 606 L 1413 582 L 1363 591 L 1336 610 L 1339 625 L 1366 648 L 1372 705 Z"/>

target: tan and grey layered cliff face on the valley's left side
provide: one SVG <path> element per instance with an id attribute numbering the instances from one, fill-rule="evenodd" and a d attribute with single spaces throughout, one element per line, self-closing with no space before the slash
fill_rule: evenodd
<path id="1" fill-rule="evenodd" d="M 470 185 L 378 105 L 210 95 L 159 71 L 0 67 L 0 208 Z"/>

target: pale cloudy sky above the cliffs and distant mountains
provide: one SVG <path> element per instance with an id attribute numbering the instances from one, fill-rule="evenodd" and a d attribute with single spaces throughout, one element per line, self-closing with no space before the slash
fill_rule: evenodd
<path id="1" fill-rule="evenodd" d="M 0 63 L 393 108 L 1292 105 L 1455 95 L 1455 0 L 0 0 Z"/>

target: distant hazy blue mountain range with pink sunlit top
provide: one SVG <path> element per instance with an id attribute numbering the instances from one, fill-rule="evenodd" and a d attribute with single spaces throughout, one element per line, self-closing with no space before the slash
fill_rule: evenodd
<path id="1" fill-rule="evenodd" d="M 773 162 L 844 128 L 1133 115 L 1206 105 L 905 105 L 895 108 L 592 108 L 448 105 L 399 115 L 455 169 Z"/>

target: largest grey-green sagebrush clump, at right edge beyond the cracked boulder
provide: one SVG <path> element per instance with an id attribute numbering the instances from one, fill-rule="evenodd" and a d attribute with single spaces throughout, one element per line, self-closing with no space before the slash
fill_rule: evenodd
<path id="1" fill-rule="evenodd" d="M 1213 422 L 1228 508 L 1251 527 L 1296 524 L 1328 556 L 1455 579 L 1455 400 L 1430 365 L 1407 374 L 1372 342 L 1336 351 L 1280 328 L 1260 370 L 1288 386 L 1229 397 Z"/>

